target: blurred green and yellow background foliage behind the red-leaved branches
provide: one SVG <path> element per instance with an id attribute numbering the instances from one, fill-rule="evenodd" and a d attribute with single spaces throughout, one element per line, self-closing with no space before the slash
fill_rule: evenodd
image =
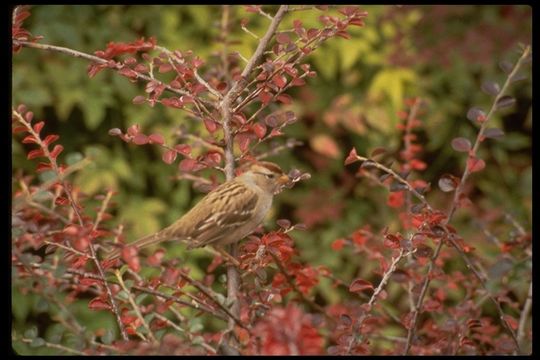
<path id="1" fill-rule="evenodd" d="M 276 7 L 264 9 L 273 13 Z M 527 6 L 370 5 L 363 9 L 369 13 L 366 26 L 353 27 L 350 40 L 332 39 L 310 55 L 318 76 L 289 92 L 293 96 L 289 107 L 299 121 L 285 134 L 304 145 L 269 159 L 313 176 L 276 199 L 267 228 L 276 228 L 277 218 L 306 223 L 306 232 L 293 233 L 302 259 L 326 265 L 347 281 L 358 272 L 358 262 L 354 254 L 331 251 L 332 241 L 366 224 L 375 231 L 399 228 L 396 212 L 385 205 L 387 191 L 355 178 L 357 166 L 344 167 L 351 147 L 365 155 L 385 146 L 397 157 L 401 135 L 396 113 L 404 109 L 405 98 L 426 100 L 419 139 L 425 144 L 422 159 L 428 169 L 421 177 L 432 184 L 428 199 L 445 209 L 451 197 L 437 189 L 438 178 L 443 173 L 460 175 L 464 163 L 464 156 L 452 150 L 451 139 L 474 139 L 476 128 L 466 119 L 467 110 L 491 104 L 490 96 L 480 90 L 481 83 L 502 83 L 498 63 L 515 61 L 518 44 L 530 44 L 532 36 L 532 9 Z M 204 73 L 218 62 L 223 47 L 216 40 L 220 6 L 36 5 L 30 11 L 26 28 L 44 36 L 41 42 L 87 53 L 104 49 L 109 41 L 154 36 L 169 49 L 193 50 L 207 61 Z M 302 19 L 306 27 L 316 25 L 318 15 L 317 10 L 289 15 L 283 28 L 291 27 L 294 18 Z M 243 18 L 250 19 L 248 28 L 259 35 L 268 19 L 232 6 L 230 40 L 234 43 L 229 51 L 249 57 L 257 42 L 240 29 Z M 170 143 L 179 126 L 192 132 L 204 129 L 182 111 L 133 105 L 131 100 L 143 93 L 144 84 L 130 83 L 109 70 L 89 79 L 87 66 L 88 62 L 63 54 L 23 49 L 13 56 L 13 105 L 24 103 L 37 119 L 46 119 L 44 133 L 60 135 L 65 147 L 61 158 L 68 164 L 83 156 L 93 159 L 75 175 L 75 183 L 88 196 L 115 189 L 115 218 L 109 224 L 123 223 L 127 239 L 134 239 L 170 224 L 202 194 L 189 181 L 174 179 L 177 166 L 161 161 L 160 148 L 126 144 L 109 136 L 108 130 L 137 123 L 145 133 L 161 132 Z M 525 73 L 530 75 L 527 69 Z M 480 156 L 487 168 L 472 177 L 477 185 L 472 198 L 480 209 L 512 212 L 526 228 L 530 228 L 532 208 L 530 82 L 528 77 L 512 85 L 516 105 L 498 113 L 492 123 L 506 136 L 482 144 Z M 14 139 L 12 148 L 13 173 L 32 172 L 35 164 L 26 160 L 20 140 Z M 468 213 L 457 215 L 454 225 L 476 236 L 473 241 L 482 241 L 470 226 Z M 187 261 L 202 269 L 195 275 L 201 274 L 210 255 L 194 253 Z M 320 295 L 337 301 L 328 284 L 320 286 Z M 40 301 L 14 291 L 15 328 L 24 331 L 29 323 L 39 322 Z M 77 306 L 82 316 L 88 315 L 84 303 Z M 101 315 L 112 325 L 112 319 Z"/>

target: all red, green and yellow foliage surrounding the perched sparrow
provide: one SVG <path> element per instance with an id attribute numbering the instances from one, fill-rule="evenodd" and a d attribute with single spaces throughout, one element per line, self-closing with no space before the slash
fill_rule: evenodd
<path id="1" fill-rule="evenodd" d="M 530 10 L 16 8 L 13 348 L 529 351 Z M 124 246 L 267 158 L 238 268 Z"/>

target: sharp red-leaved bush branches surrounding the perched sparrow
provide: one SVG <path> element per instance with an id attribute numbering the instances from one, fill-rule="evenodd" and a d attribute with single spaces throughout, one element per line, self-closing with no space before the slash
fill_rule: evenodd
<path id="1" fill-rule="evenodd" d="M 231 179 L 239 164 L 299 145 L 285 132 L 298 121 L 290 108 L 283 107 L 294 102 L 287 92 L 308 86 L 316 76 L 307 60 L 310 53 L 336 37 L 349 39 L 348 29 L 364 26 L 367 16 L 356 6 L 339 6 L 332 12 L 329 6 L 282 5 L 271 15 L 262 6 L 245 9 L 249 18 L 240 24 L 244 31 L 249 32 L 249 20 L 257 16 L 269 18 L 269 25 L 245 62 L 224 57 L 226 74 L 206 66 L 196 51 L 169 50 L 153 37 L 111 41 L 93 55 L 37 42 L 41 39 L 24 29 L 30 12 L 23 7 L 13 15 L 13 50 L 21 61 L 21 48 L 82 58 L 90 62 L 89 77 L 112 70 L 112 76 L 144 83 L 133 106 L 164 106 L 200 121 L 205 133 L 180 130 L 178 142 L 137 124 L 110 129 L 109 134 L 129 146 L 160 148 L 164 166 L 176 166 L 179 176 L 209 191 L 220 180 L 205 177 L 203 170 Z M 299 10 L 319 12 L 319 26 L 306 27 L 294 19 Z M 293 25 L 285 29 L 282 20 L 289 16 Z M 448 144 L 463 153 L 465 164 L 462 173 L 439 177 L 438 189 L 452 195 L 449 209 L 432 205 L 428 195 L 438 190 L 422 179 L 430 166 L 418 136 L 429 114 L 423 99 L 407 100 L 398 114 L 402 147 L 397 156 L 383 146 L 369 155 L 350 149 L 344 166 L 356 166 L 356 176 L 366 178 L 366 186 L 388 189 L 380 202 L 396 212 L 400 225 L 378 229 L 362 220 L 349 236 L 332 242 L 328 251 L 353 254 L 359 263 L 373 268 L 372 277 L 350 282 L 327 266 L 302 261 L 293 233 L 309 232 L 318 222 L 339 216 L 339 204 L 328 204 L 313 215 L 298 210 L 306 224 L 278 220 L 277 230 L 258 231 L 230 249 L 239 266 L 215 255 L 203 276 L 182 259 L 166 257 L 163 248 L 149 256 L 139 254 L 129 246 L 131 239 L 124 236 L 123 226 L 110 225 L 115 190 L 103 189 L 101 195 L 89 198 L 84 189 L 73 185 L 70 175 L 90 160 L 66 165 L 62 139 L 52 133 L 47 120 L 36 120 L 25 105 L 15 106 L 13 134 L 36 165 L 34 172 L 18 173 L 13 182 L 13 282 L 22 293 L 39 294 L 59 308 L 51 321 L 79 339 L 54 342 L 46 340 L 42 331 L 29 329 L 24 334 L 14 332 L 13 342 L 79 355 L 521 353 L 530 337 L 525 330 L 529 300 L 522 305 L 507 287 L 490 283 L 474 246 L 452 226 L 452 220 L 457 209 L 473 207 L 468 197 L 471 175 L 490 165 L 478 149 L 488 139 L 504 136 L 488 126 L 496 111 L 514 103 L 508 87 L 529 58 L 530 48 L 525 47 L 520 58 L 505 68 L 502 85 L 483 86 L 493 97 L 488 111 L 473 107 L 464 114 L 477 128 L 476 138 L 458 134 Z M 320 139 L 330 156 L 339 153 L 333 142 Z M 270 141 L 273 145 L 260 146 Z M 50 176 L 39 181 L 36 174 L 43 172 Z M 310 178 L 296 169 L 289 175 L 293 183 Z M 314 201 L 322 196 L 314 194 Z M 531 234 L 519 224 L 516 228 L 513 240 L 501 243 L 499 249 L 511 261 L 530 253 L 531 247 Z M 103 261 L 101 249 L 111 247 L 122 248 L 120 259 Z M 518 255 L 512 253 L 514 249 Z M 449 265 L 456 257 L 464 267 Z M 223 266 L 226 281 L 216 271 Z M 332 284 L 338 301 L 315 296 L 322 282 Z M 390 286 L 407 298 L 408 311 L 392 307 L 397 299 L 390 297 L 396 294 L 390 295 Z M 86 320 L 70 309 L 75 300 L 109 314 L 115 329 L 85 331 Z M 491 302 L 490 312 L 482 310 L 482 302 Z"/>

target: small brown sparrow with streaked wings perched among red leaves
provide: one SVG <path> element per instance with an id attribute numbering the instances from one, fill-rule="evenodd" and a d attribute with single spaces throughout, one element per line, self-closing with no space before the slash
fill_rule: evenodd
<path id="1" fill-rule="evenodd" d="M 188 249 L 212 245 L 223 251 L 225 245 L 251 234 L 268 214 L 274 195 L 290 185 L 291 179 L 272 162 L 257 161 L 246 167 L 246 171 L 206 194 L 173 224 L 128 245 L 139 250 L 178 240 L 187 242 Z M 116 259 L 121 252 L 114 249 L 105 259 Z"/>

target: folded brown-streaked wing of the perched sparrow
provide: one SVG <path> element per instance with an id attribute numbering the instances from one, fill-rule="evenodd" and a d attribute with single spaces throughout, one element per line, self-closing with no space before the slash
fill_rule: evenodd
<path id="1" fill-rule="evenodd" d="M 190 238 L 188 247 L 205 246 L 231 236 L 253 218 L 257 200 L 253 190 L 236 181 L 209 193 L 185 216 L 184 224 L 194 220 L 186 233 Z"/>

